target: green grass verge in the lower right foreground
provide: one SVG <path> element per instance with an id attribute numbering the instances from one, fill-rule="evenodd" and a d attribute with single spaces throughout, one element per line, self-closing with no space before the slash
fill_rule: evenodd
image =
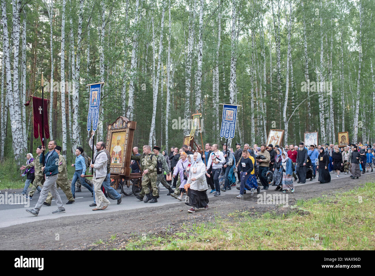
<path id="1" fill-rule="evenodd" d="M 118 249 L 374 250 L 374 206 L 375 183 L 367 183 L 333 196 L 298 200 L 282 214 L 235 211 L 230 218 L 183 225 L 183 231 L 165 237 L 135 237 Z"/>

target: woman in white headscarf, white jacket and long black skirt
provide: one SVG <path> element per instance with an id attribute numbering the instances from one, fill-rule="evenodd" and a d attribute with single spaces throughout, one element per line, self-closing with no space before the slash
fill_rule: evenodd
<path id="1" fill-rule="evenodd" d="M 193 160 L 186 183 L 189 200 L 185 204 L 192 207 L 187 210 L 189 213 L 195 213 L 195 208 L 208 209 L 208 185 L 205 177 L 206 167 L 202 161 L 201 154 L 198 152 L 193 154 Z"/>

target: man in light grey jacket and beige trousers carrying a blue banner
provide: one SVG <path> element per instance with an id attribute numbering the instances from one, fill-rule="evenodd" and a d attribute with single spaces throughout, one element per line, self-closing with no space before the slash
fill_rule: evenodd
<path id="1" fill-rule="evenodd" d="M 96 143 L 96 153 L 91 161 L 90 167 L 93 168 L 93 184 L 95 190 L 96 208 L 93 211 L 105 210 L 111 202 L 105 198 L 103 191 L 100 189 L 102 183 L 107 177 L 107 153 L 104 151 L 105 143 L 100 141 Z"/>

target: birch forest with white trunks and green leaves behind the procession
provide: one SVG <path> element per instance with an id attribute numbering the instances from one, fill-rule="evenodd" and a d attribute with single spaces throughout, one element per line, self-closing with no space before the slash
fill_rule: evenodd
<path id="1" fill-rule="evenodd" d="M 31 95 L 49 99 L 50 136 L 87 151 L 86 84 L 104 82 L 98 139 L 122 115 L 133 145 L 181 146 L 202 113 L 220 141 L 222 105 L 239 107 L 235 142 L 375 142 L 375 0 L 1 0 L 0 159 L 34 153 Z M 177 123 L 176 123 L 177 120 Z M 200 136 L 199 136 L 200 137 Z M 200 138 L 199 138 L 200 140 Z M 200 144 L 200 143 L 199 143 Z"/>

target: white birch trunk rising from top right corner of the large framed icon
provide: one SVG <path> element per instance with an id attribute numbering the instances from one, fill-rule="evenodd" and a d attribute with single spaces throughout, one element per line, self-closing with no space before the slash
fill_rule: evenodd
<path id="1" fill-rule="evenodd" d="M 133 118 L 133 110 L 134 110 L 134 79 L 136 74 L 136 59 L 135 54 L 138 48 L 138 7 L 139 7 L 139 0 L 135 0 L 135 15 L 134 15 L 134 35 L 133 35 L 133 43 L 132 43 L 132 58 L 130 62 L 130 81 L 129 81 L 129 98 L 127 100 L 127 112 L 126 118 L 132 120 Z"/>

